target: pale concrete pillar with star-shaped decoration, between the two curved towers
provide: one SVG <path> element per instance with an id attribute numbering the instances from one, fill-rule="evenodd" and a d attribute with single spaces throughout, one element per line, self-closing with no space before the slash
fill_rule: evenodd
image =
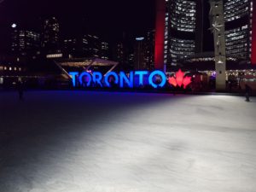
<path id="1" fill-rule="evenodd" d="M 214 36 L 216 90 L 226 88 L 226 48 L 223 0 L 210 0 L 210 21 Z"/>

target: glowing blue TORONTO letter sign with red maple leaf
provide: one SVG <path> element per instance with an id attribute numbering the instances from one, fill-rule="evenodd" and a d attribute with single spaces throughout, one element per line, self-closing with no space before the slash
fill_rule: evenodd
<path id="1" fill-rule="evenodd" d="M 115 72 L 109 72 L 104 77 L 102 73 L 100 72 L 94 72 L 94 73 L 78 73 L 78 72 L 71 72 L 69 73 L 70 77 L 73 80 L 73 86 L 77 86 L 77 79 L 79 79 L 79 84 L 82 86 L 90 86 L 91 82 L 94 83 L 94 85 L 100 85 L 101 87 L 107 86 L 111 87 L 112 84 L 118 84 L 120 88 L 124 88 L 125 84 L 129 88 L 133 88 L 134 84 L 139 84 L 140 86 L 144 85 L 150 85 L 154 89 L 160 87 L 164 87 L 166 85 L 167 79 L 166 74 L 160 70 L 156 70 L 153 72 L 148 71 L 135 71 L 130 72 L 129 74 L 126 74 L 125 72 L 120 72 L 119 74 Z M 110 77 L 113 77 L 112 81 L 110 82 Z M 138 79 L 137 79 L 138 78 Z M 136 82 L 135 82 L 136 81 Z M 186 88 L 188 84 L 191 83 L 190 77 L 184 77 L 184 73 L 179 70 L 176 73 L 176 78 L 170 78 L 168 79 L 169 84 L 172 84 L 173 86 L 182 86 L 183 88 Z"/>

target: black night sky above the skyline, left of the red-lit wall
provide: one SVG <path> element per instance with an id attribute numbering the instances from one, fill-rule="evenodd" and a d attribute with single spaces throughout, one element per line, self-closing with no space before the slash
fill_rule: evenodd
<path id="1" fill-rule="evenodd" d="M 40 18 L 49 15 L 60 21 L 63 35 L 86 30 L 113 40 L 123 32 L 143 35 L 153 29 L 154 0 L 5 0 L 0 5 L 1 27 L 17 22 L 38 28 Z"/>

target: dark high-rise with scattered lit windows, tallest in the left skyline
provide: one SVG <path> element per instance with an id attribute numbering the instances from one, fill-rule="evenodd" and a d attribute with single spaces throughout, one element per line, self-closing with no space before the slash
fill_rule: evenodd
<path id="1" fill-rule="evenodd" d="M 60 53 L 60 24 L 55 17 L 44 20 L 42 48 L 47 54 Z"/>

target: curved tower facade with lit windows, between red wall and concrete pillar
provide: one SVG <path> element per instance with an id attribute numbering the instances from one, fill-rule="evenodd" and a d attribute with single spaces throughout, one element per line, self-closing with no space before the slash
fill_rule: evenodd
<path id="1" fill-rule="evenodd" d="M 196 36 L 201 35 L 197 1 L 169 0 L 166 2 L 165 61 L 166 67 L 176 66 L 178 61 L 195 55 Z"/>

